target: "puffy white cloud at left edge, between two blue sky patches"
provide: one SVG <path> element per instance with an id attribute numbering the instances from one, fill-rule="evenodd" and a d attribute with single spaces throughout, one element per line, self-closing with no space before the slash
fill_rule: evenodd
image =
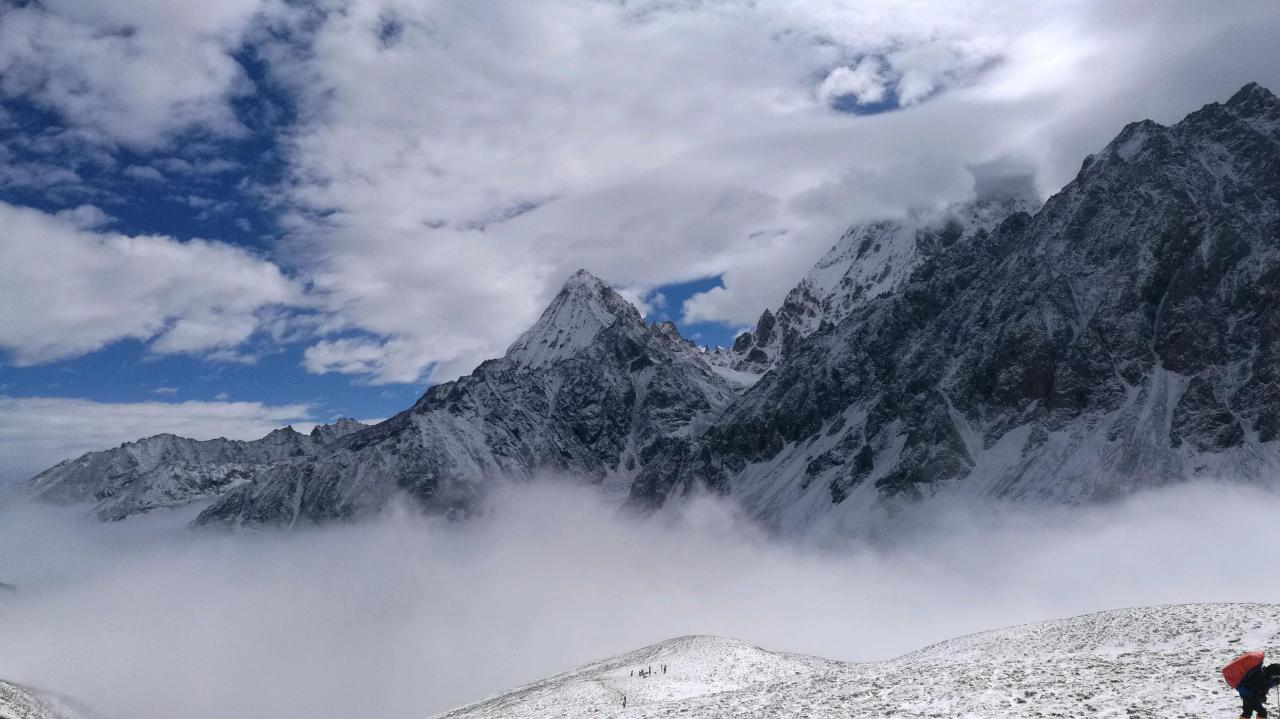
<path id="1" fill-rule="evenodd" d="M 96 209 L 67 216 L 0 202 L 0 348 L 19 365 L 152 340 L 157 353 L 227 348 L 260 313 L 303 302 L 279 267 L 233 246 L 83 229 Z"/>

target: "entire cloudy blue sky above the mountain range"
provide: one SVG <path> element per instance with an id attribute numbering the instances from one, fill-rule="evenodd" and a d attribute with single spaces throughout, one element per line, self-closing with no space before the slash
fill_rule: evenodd
<path id="1" fill-rule="evenodd" d="M 1274 0 L 0 0 L 0 477 L 374 420 L 576 269 L 727 344 L 851 223 L 1280 88 Z"/>

